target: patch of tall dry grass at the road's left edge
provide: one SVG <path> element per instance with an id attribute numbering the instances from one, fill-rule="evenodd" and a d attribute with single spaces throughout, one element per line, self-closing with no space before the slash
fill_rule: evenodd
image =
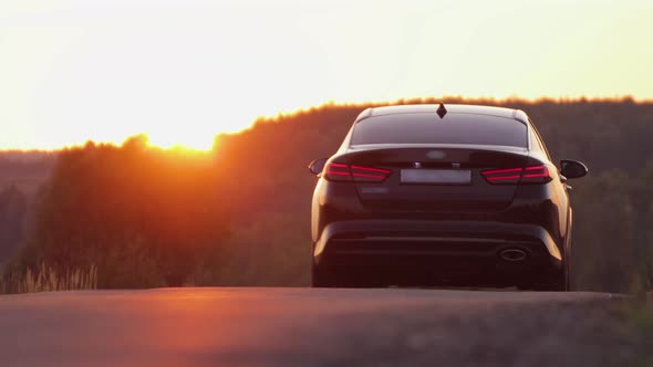
<path id="1" fill-rule="evenodd" d="M 13 273 L 0 280 L 0 294 L 95 289 L 97 289 L 97 266 L 95 265 L 61 274 L 41 264 L 37 271 L 28 269 L 24 274 Z"/>

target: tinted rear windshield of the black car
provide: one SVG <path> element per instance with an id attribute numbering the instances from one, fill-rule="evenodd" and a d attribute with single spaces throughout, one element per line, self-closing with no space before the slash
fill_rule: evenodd
<path id="1" fill-rule="evenodd" d="M 526 125 L 487 115 L 395 114 L 363 119 L 354 127 L 351 145 L 478 144 L 527 147 Z"/>

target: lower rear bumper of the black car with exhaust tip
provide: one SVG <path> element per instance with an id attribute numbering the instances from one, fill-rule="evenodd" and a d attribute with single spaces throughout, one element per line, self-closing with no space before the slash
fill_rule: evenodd
<path id="1" fill-rule="evenodd" d="M 526 259 L 501 259 L 499 253 L 507 249 L 524 251 Z M 483 283 L 479 276 L 490 284 L 501 276 L 511 282 L 516 275 L 539 275 L 560 269 L 562 263 L 560 250 L 541 227 L 469 221 L 333 222 L 322 231 L 313 256 L 315 266 L 323 270 L 440 279 L 460 275 L 477 284 Z"/>

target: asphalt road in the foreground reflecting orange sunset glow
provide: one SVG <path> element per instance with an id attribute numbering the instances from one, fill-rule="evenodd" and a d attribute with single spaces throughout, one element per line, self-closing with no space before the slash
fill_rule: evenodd
<path id="1" fill-rule="evenodd" d="M 0 296 L 0 366 L 623 366 L 601 293 L 169 289 Z M 653 349 L 652 349 L 653 350 Z"/>

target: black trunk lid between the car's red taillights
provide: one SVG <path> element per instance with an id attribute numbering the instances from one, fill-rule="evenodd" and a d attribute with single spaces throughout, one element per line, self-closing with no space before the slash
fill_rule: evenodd
<path id="1" fill-rule="evenodd" d="M 350 165 L 391 170 L 383 182 L 356 182 L 361 202 L 383 211 L 500 211 L 517 185 L 493 185 L 486 169 L 533 164 L 516 147 L 381 145 L 354 147 Z"/>

